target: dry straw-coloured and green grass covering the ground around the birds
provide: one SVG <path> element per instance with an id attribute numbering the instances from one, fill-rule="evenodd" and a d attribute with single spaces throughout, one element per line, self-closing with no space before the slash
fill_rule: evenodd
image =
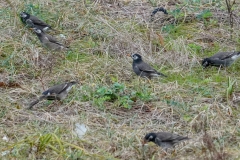
<path id="1" fill-rule="evenodd" d="M 1 159 L 239 159 L 240 62 L 203 69 L 201 60 L 239 48 L 240 20 L 231 40 L 228 17 L 221 14 L 227 11 L 218 10 L 224 2 L 184 1 L 169 5 L 169 12 L 179 12 L 172 19 L 157 13 L 150 22 L 153 6 L 164 4 L 1 3 Z M 51 24 L 56 31 L 49 34 L 71 50 L 43 48 L 22 25 L 23 10 Z M 168 77 L 150 83 L 137 77 L 129 53 L 140 53 Z M 81 84 L 62 103 L 42 101 L 26 110 L 43 90 L 69 80 Z M 83 139 L 74 133 L 76 123 L 88 127 Z M 191 139 L 164 156 L 153 143 L 142 147 L 151 131 Z"/>

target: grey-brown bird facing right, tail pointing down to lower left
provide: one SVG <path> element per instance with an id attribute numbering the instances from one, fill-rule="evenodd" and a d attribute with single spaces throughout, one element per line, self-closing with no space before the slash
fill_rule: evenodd
<path id="1" fill-rule="evenodd" d="M 68 92 L 72 89 L 72 86 L 77 84 L 76 81 L 70 81 L 62 84 L 55 85 L 50 87 L 48 90 L 44 91 L 42 95 L 35 101 L 31 102 L 28 109 L 32 109 L 32 107 L 38 102 L 47 99 L 47 100 L 62 100 L 67 97 Z"/>

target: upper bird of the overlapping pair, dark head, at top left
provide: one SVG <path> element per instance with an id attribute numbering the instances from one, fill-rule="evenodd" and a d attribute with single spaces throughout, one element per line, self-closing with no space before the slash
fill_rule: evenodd
<path id="1" fill-rule="evenodd" d="M 52 29 L 52 27 L 50 25 L 41 21 L 36 16 L 28 14 L 27 12 L 21 12 L 20 13 L 20 18 L 21 18 L 21 21 L 30 28 L 35 27 L 35 28 L 41 29 L 43 31 L 47 31 L 49 29 Z"/>

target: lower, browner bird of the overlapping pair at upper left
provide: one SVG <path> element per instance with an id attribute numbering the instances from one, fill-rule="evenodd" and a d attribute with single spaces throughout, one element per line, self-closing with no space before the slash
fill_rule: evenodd
<path id="1" fill-rule="evenodd" d="M 55 39 L 53 36 L 43 32 L 41 29 L 32 29 L 38 36 L 42 45 L 45 46 L 47 49 L 52 51 L 64 51 L 69 49 L 68 47 L 65 47 L 63 44 L 59 43 L 57 39 Z"/>

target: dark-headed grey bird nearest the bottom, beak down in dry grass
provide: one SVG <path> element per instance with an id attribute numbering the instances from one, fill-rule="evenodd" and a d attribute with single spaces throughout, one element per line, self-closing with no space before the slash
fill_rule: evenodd
<path id="1" fill-rule="evenodd" d="M 153 142 L 167 151 L 168 148 L 174 147 L 180 141 L 188 139 L 190 138 L 187 136 L 184 137 L 169 132 L 148 133 L 143 139 L 143 145 L 147 142 Z"/>

